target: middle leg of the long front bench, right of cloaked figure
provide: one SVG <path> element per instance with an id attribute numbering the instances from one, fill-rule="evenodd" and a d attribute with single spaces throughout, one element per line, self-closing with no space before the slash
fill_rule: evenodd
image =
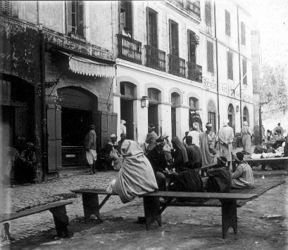
<path id="1" fill-rule="evenodd" d="M 157 221 L 158 226 L 162 226 L 160 203 L 158 197 L 143 197 L 144 215 L 146 230 L 150 230 L 150 225 Z"/>

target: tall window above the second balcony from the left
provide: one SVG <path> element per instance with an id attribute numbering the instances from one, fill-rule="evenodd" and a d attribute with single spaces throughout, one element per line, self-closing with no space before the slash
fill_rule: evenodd
<path id="1" fill-rule="evenodd" d="M 157 12 L 147 8 L 147 42 L 158 48 Z"/>

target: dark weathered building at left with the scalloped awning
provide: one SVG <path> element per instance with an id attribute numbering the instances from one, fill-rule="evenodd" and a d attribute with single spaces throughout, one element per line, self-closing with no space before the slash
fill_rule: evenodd
<path id="1" fill-rule="evenodd" d="M 89 124 L 99 147 L 116 131 L 112 13 L 96 1 L 0 1 L 1 145 L 35 143 L 44 173 L 86 164 Z"/>

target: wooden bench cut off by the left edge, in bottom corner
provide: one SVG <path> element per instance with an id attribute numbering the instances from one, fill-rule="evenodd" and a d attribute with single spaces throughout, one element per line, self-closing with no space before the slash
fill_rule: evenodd
<path id="1" fill-rule="evenodd" d="M 0 223 L 5 221 L 12 221 L 16 218 L 30 216 L 35 213 L 40 213 L 49 210 L 53 214 L 54 223 L 58 237 L 69 237 L 67 225 L 69 218 L 66 214 L 66 205 L 72 204 L 70 201 L 51 202 L 42 206 L 36 206 L 32 209 L 25 209 L 20 212 L 10 213 L 0 216 Z M 9 232 L 8 232 L 9 234 Z"/>

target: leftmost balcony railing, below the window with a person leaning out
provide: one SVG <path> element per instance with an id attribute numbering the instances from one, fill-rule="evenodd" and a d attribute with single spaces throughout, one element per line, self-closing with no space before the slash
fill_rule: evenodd
<path id="1" fill-rule="evenodd" d="M 117 34 L 118 39 L 118 58 L 142 64 L 142 43 L 130 37 Z"/>

